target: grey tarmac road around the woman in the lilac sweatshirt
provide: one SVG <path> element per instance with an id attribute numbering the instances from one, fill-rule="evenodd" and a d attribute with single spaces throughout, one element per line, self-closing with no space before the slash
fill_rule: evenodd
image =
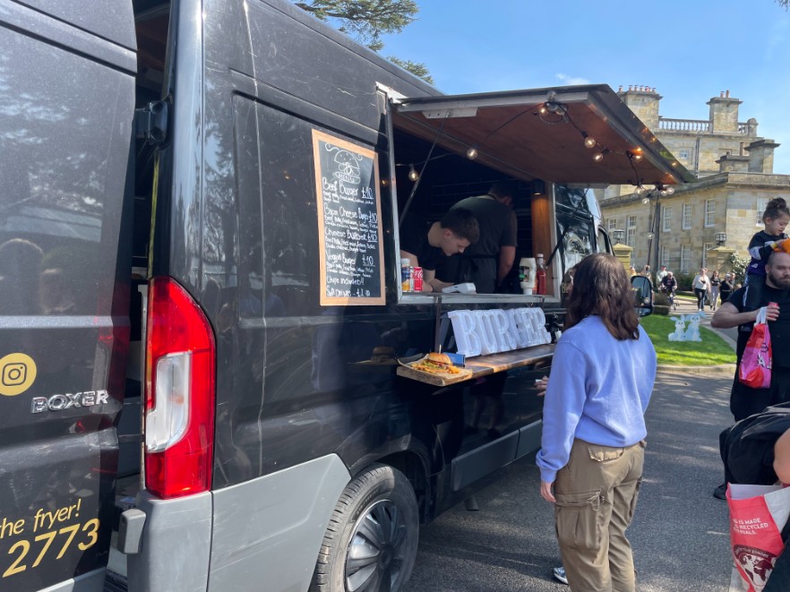
<path id="1" fill-rule="evenodd" d="M 721 592 L 729 584 L 726 502 L 718 433 L 732 421 L 732 375 L 659 372 L 648 408 L 648 448 L 629 529 L 641 592 Z M 542 592 L 569 588 L 559 563 L 551 504 L 539 493 L 534 456 L 502 469 L 477 494 L 422 528 L 406 592 Z"/>

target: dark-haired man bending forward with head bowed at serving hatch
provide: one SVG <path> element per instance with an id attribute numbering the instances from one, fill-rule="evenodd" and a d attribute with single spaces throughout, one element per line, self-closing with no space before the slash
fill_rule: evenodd
<path id="1" fill-rule="evenodd" d="M 441 292 L 452 284 L 436 278 L 436 267 L 444 257 L 463 253 L 480 238 L 475 215 L 463 208 L 448 211 L 428 227 L 404 225 L 400 232 L 400 258 L 423 268 L 423 291 Z"/>

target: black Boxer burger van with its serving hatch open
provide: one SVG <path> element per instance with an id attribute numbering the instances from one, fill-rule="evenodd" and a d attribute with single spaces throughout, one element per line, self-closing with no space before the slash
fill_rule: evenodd
<path id="1" fill-rule="evenodd" d="M 610 248 L 588 187 L 688 178 L 608 86 L 442 95 L 286 1 L 0 25 L 0 590 L 402 588 L 418 525 L 537 449 L 554 346 L 403 364 L 560 311 Z M 546 294 L 404 291 L 406 210 L 502 180 Z"/>

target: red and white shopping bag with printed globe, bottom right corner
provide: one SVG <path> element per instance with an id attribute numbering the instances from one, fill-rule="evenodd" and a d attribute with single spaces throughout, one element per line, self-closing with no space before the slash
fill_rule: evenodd
<path id="1" fill-rule="evenodd" d="M 727 486 L 733 576 L 730 592 L 760 592 L 785 548 L 782 528 L 790 516 L 790 487 Z"/>

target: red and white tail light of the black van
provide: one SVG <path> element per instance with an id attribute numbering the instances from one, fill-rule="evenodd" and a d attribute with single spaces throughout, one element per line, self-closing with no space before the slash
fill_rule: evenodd
<path id="1" fill-rule="evenodd" d="M 164 499 L 209 491 L 214 334 L 201 308 L 174 279 L 151 279 L 148 296 L 145 486 Z"/>

